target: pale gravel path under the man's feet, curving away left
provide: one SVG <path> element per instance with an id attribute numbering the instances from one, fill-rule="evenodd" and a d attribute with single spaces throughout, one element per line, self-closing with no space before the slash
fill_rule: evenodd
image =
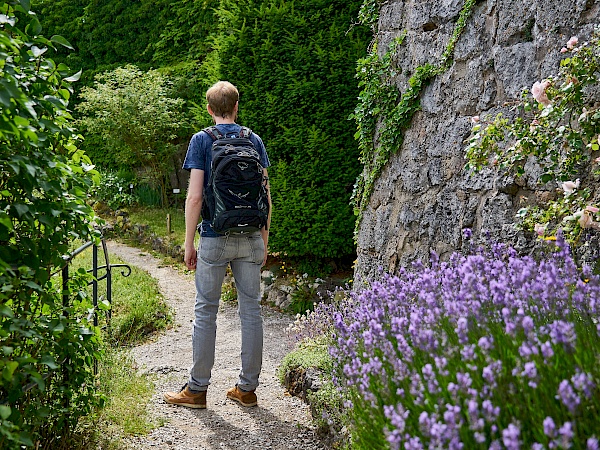
<path id="1" fill-rule="evenodd" d="M 236 306 L 221 302 L 217 319 L 217 347 L 207 409 L 192 410 L 166 404 L 162 393 L 177 391 L 187 381 L 192 361 L 191 331 L 195 289 L 193 278 L 164 266 L 159 259 L 116 242 L 110 254 L 145 269 L 158 280 L 173 308 L 175 326 L 156 341 L 132 349 L 140 370 L 156 374 L 156 392 L 148 406 L 152 417 L 165 423 L 147 436 L 126 442 L 132 449 L 303 450 L 328 448 L 314 432 L 308 406 L 290 397 L 276 370 L 289 350 L 285 328 L 292 318 L 263 308 L 264 357 L 258 406 L 244 408 L 226 400 L 240 370 L 240 327 Z"/>

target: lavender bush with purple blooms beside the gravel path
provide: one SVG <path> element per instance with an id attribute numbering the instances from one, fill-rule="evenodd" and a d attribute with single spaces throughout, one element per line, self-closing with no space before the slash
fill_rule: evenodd
<path id="1" fill-rule="evenodd" d="M 328 311 L 335 381 L 382 447 L 597 448 L 599 301 L 560 238 L 433 257 Z"/>

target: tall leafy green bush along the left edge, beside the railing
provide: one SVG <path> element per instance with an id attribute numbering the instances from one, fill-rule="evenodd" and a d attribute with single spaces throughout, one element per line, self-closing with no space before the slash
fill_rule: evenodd
<path id="1" fill-rule="evenodd" d="M 53 274 L 74 238 L 96 238 L 86 205 L 92 165 L 76 147 L 64 65 L 45 57 L 60 36 L 41 35 L 29 1 L 0 5 L 0 447 L 57 448 L 101 404 L 93 385 L 98 336 Z M 70 304 L 63 306 L 63 295 Z M 32 389 L 25 391 L 25 386 Z"/>

